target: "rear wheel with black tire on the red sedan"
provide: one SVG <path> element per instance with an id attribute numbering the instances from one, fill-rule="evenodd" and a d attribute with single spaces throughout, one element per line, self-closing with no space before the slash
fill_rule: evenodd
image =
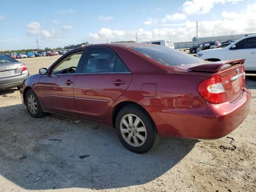
<path id="1" fill-rule="evenodd" d="M 137 105 L 125 106 L 118 112 L 115 128 L 120 142 L 135 153 L 148 152 L 160 140 L 152 118 Z"/>

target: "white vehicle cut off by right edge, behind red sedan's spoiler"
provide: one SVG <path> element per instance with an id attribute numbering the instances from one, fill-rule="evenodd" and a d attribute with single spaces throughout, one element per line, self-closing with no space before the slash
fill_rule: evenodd
<path id="1" fill-rule="evenodd" d="M 225 48 L 200 51 L 196 56 L 208 61 L 244 58 L 244 70 L 256 72 L 256 35 L 244 36 Z"/>

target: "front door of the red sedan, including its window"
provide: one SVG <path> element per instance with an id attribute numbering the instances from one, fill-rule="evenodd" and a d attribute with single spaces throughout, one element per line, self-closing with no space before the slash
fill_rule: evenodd
<path id="1" fill-rule="evenodd" d="M 67 114 L 77 114 L 74 101 L 76 67 L 83 52 L 72 53 L 40 79 L 40 97 L 44 108 Z"/>

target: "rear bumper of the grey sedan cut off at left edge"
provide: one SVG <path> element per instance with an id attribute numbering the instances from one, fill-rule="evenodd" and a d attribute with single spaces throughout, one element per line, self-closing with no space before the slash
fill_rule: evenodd
<path id="1" fill-rule="evenodd" d="M 0 90 L 21 86 L 22 81 L 29 76 L 28 70 L 23 71 L 22 74 L 0 78 Z"/>

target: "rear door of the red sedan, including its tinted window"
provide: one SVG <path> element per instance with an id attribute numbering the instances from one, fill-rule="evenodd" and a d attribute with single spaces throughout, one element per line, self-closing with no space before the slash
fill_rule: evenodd
<path id="1" fill-rule="evenodd" d="M 107 47 L 89 48 L 76 75 L 74 99 L 82 117 L 102 120 L 130 85 L 132 74 L 120 57 Z"/>

